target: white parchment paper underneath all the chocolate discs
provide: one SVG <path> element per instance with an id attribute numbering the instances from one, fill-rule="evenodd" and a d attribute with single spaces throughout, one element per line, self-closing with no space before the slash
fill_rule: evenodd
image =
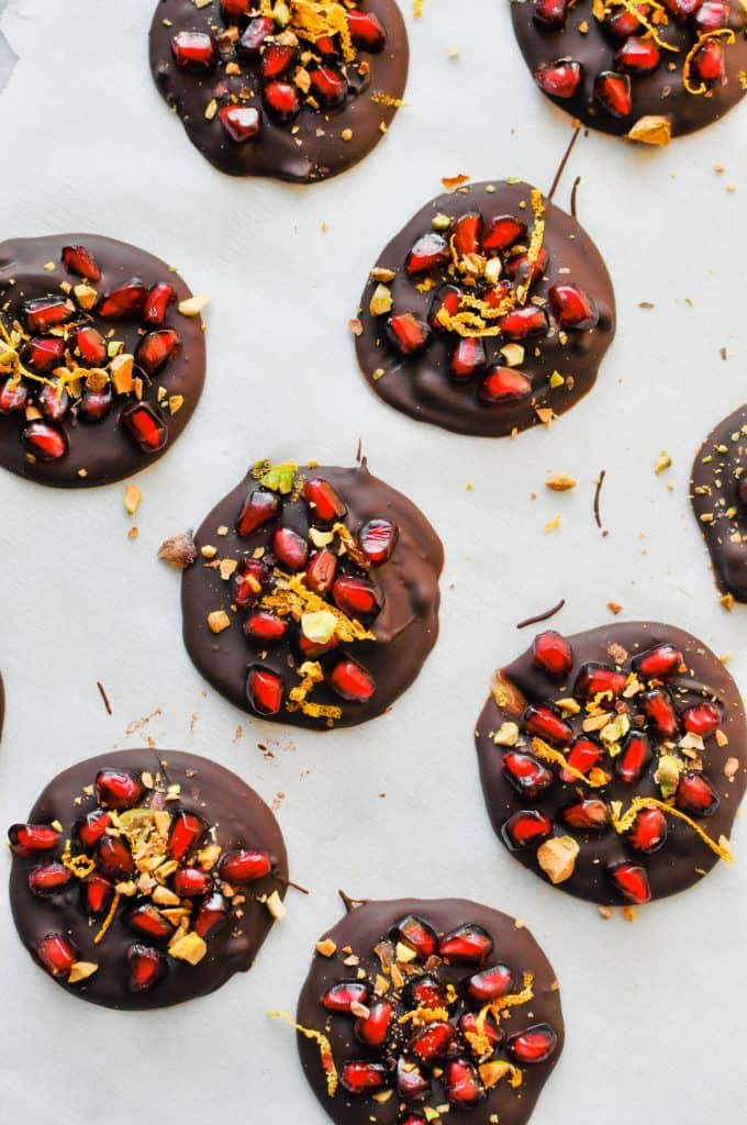
<path id="1" fill-rule="evenodd" d="M 122 486 L 57 493 L 0 474 L 0 824 L 24 819 L 58 770 L 147 734 L 215 757 L 268 801 L 285 793 L 292 872 L 313 893 L 291 894 L 251 974 L 143 1015 L 54 988 L 1 902 L 2 1120 L 324 1125 L 292 1033 L 264 1011 L 292 1008 L 343 886 L 360 897 L 464 894 L 526 920 L 558 971 L 568 1026 L 538 1125 L 738 1125 L 744 825 L 735 868 L 720 866 L 632 926 L 604 922 L 495 840 L 471 731 L 492 668 L 531 640 L 516 621 L 561 596 L 555 624 L 568 632 L 604 622 L 606 602 L 621 602 L 628 618 L 668 619 L 734 652 L 731 670 L 747 684 L 747 611 L 719 606 L 687 503 L 698 443 L 745 399 L 747 109 L 664 152 L 582 141 L 558 201 L 583 176 L 579 214 L 613 271 L 618 339 L 596 389 L 551 432 L 469 440 L 380 404 L 357 371 L 346 323 L 379 249 L 442 176 L 549 186 L 568 122 L 533 90 L 507 4 L 426 0 L 420 21 L 408 10 L 410 107 L 367 161 L 309 189 L 232 180 L 199 158 L 151 81 L 151 15 L 148 0 L 10 0 L 3 16 L 20 61 L 0 96 L 0 237 L 125 238 L 177 264 L 213 306 L 205 396 L 178 446 L 138 478 L 136 541 Z M 181 646 L 178 577 L 154 555 L 254 459 L 350 464 L 359 436 L 374 471 L 417 501 L 443 538 L 442 636 L 390 716 L 291 736 L 206 690 Z M 655 477 L 662 449 L 674 467 Z M 592 519 L 602 467 L 606 539 Z M 548 493 L 549 471 L 573 472 L 578 488 Z M 560 530 L 544 534 L 557 515 Z"/>

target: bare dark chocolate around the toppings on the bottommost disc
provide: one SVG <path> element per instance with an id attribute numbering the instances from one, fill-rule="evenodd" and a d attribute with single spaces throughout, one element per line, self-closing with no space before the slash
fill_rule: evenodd
<path id="1" fill-rule="evenodd" d="M 430 921 L 439 934 L 449 933 L 464 922 L 476 922 L 487 930 L 494 943 L 486 966 L 505 962 L 519 980 L 524 972 L 533 974 L 534 998 L 529 1004 L 508 1008 L 501 1026 L 506 1035 L 512 1035 L 532 1024 L 548 1023 L 558 1036 L 554 1054 L 547 1062 L 523 1066 L 523 1082 L 519 1089 L 511 1089 L 503 1080 L 489 1091 L 487 1099 L 479 1106 L 474 1109 L 452 1106 L 446 1118 L 460 1122 L 462 1125 L 467 1125 L 468 1122 L 479 1122 L 482 1125 L 488 1122 L 492 1114 L 497 1114 L 501 1125 L 524 1125 L 532 1114 L 542 1087 L 560 1059 L 565 1035 L 560 992 L 552 966 L 530 932 L 508 915 L 465 899 L 398 899 L 387 902 L 366 902 L 356 907 L 323 935 L 336 944 L 338 953 L 332 957 L 325 957 L 320 953 L 314 955 L 298 1000 L 298 1023 L 303 1027 L 323 1032 L 328 1036 L 338 1070 L 352 1059 L 372 1058 L 370 1052 L 367 1052 L 367 1048 L 353 1037 L 352 1017 L 331 1015 L 320 1001 L 336 981 L 354 976 L 356 970 L 351 971 L 343 964 L 345 953 L 342 951 L 348 946 L 360 957 L 361 968 L 366 970 L 370 980 L 374 980 L 380 972 L 374 947 L 388 936 L 395 922 L 412 914 Z M 453 984 L 457 990 L 460 990 L 461 983 L 475 971 L 474 964 L 444 962 L 436 970 L 441 980 Z M 369 1122 L 375 1122 L 377 1125 L 394 1125 L 400 1119 L 400 1102 L 396 1095 L 388 1101 L 379 1104 L 370 1097 L 351 1097 L 341 1087 L 331 1098 L 327 1095 L 316 1043 L 299 1035 L 298 1052 L 314 1094 L 332 1120 L 339 1125 L 368 1125 Z M 496 1058 L 502 1059 L 505 1055 L 498 1051 Z M 446 1102 L 443 1088 L 434 1080 L 432 1094 L 425 1102 L 412 1102 L 410 1109 L 412 1113 L 418 1110 L 422 1113 L 424 1105 L 435 1108 Z"/>

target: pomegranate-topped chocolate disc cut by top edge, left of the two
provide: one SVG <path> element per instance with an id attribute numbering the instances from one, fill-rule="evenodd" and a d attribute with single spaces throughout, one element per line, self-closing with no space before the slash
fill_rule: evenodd
<path id="1" fill-rule="evenodd" d="M 231 176 L 309 183 L 351 168 L 387 132 L 407 64 L 394 0 L 161 0 L 151 27 L 159 90 Z"/>

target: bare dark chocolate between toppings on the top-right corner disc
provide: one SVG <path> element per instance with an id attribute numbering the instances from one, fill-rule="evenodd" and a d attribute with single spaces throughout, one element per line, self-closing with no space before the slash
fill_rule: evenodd
<path id="1" fill-rule="evenodd" d="M 672 136 L 682 136 L 719 120 L 745 96 L 739 74 L 747 69 L 747 16 L 741 9 L 740 0 L 731 0 L 729 27 L 736 34 L 736 43 L 727 44 L 724 48 L 726 82 L 713 87 L 708 96 L 687 92 L 683 84 L 682 68 L 698 35 L 690 25 L 683 26 L 669 19 L 668 25 L 658 30 L 662 39 L 677 47 L 678 52 L 663 51 L 662 62 L 652 74 L 631 75 L 632 112 L 622 118 L 606 112 L 594 97 L 595 75 L 615 70 L 615 52 L 621 43 L 603 30 L 594 18 L 592 0 L 580 0 L 573 4 L 565 28 L 560 30 L 538 27 L 532 0 L 513 0 L 510 7 L 519 45 L 532 73 L 541 64 L 559 58 L 570 58 L 582 64 L 584 74 L 575 94 L 572 98 L 554 97 L 551 100 L 591 128 L 621 136 L 639 118 L 652 115 L 667 117 Z M 578 30 L 584 22 L 588 25 L 586 35 Z M 646 32 L 642 34 L 646 35 Z M 669 70 L 670 64 L 674 64 L 674 70 Z M 691 84 L 698 87 L 696 75 L 693 75 Z"/>

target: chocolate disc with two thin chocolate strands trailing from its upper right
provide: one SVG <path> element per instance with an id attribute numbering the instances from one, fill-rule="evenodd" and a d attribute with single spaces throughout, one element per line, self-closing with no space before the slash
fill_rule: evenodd
<path id="1" fill-rule="evenodd" d="M 526 183 L 476 183 L 428 204 L 361 298 L 358 362 L 397 410 L 503 438 L 564 414 L 614 335 L 612 284 L 575 218 Z"/>

